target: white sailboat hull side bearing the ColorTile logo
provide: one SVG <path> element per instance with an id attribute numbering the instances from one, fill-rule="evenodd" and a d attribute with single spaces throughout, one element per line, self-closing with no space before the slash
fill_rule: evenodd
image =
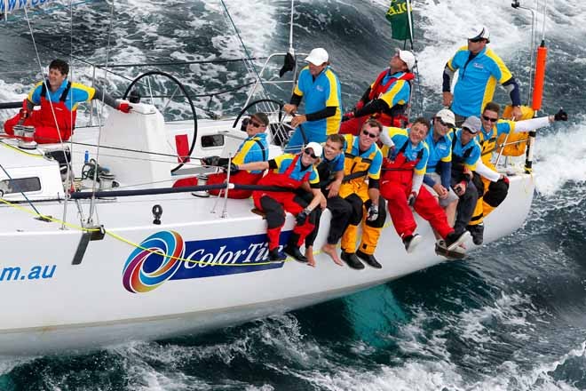
<path id="1" fill-rule="evenodd" d="M 487 218 L 485 242 L 521 227 L 533 194 L 529 175 L 511 177 L 510 194 Z M 80 230 L 60 229 L 58 223 L 23 218 L 20 210 L 0 208 L 4 223 L 0 231 L 0 355 L 33 355 L 213 331 L 334 299 L 445 260 L 435 255 L 432 231 L 425 221 L 417 218 L 424 243 L 407 254 L 387 217 L 376 249 L 376 258 L 383 265 L 380 270 L 338 267 L 322 253 L 316 255 L 315 268 L 291 259 L 276 265 L 229 266 L 262 262 L 265 220 L 250 211 L 250 199 L 230 200 L 227 218 L 221 216 L 223 201 L 216 205 L 215 213 L 210 212 L 216 201 L 189 194 L 102 201 L 96 214 L 107 235 L 88 244 L 78 265 L 72 260 L 82 238 Z M 161 225 L 153 224 L 155 203 L 162 206 Z M 63 212 L 63 204 L 57 202 L 37 203 L 36 207 L 45 215 Z M 75 203 L 68 203 L 67 216 L 76 213 Z M 294 222 L 289 216 L 284 231 Z M 328 228 L 329 211 L 325 211 L 316 251 Z M 154 239 L 145 242 L 151 235 Z M 183 249 L 169 237 L 183 239 Z M 180 258 L 216 265 L 178 262 L 162 282 L 154 282 L 161 279 L 159 275 L 150 285 L 140 283 L 130 277 L 132 262 L 140 265 L 140 255 L 132 256 L 133 251 L 141 253 L 135 246 L 139 243 L 168 252 L 175 248 Z M 149 262 L 142 269 L 143 277 L 162 268 L 161 259 Z"/>

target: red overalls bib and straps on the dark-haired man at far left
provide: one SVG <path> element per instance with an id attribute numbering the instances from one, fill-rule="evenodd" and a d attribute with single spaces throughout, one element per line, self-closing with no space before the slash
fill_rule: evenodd
<path id="1" fill-rule="evenodd" d="M 35 124 L 37 126 L 59 128 L 61 134 L 68 135 L 67 138 L 64 138 L 64 140 L 67 140 L 73 133 L 75 117 L 77 116 L 76 110 L 69 111 L 65 105 L 67 94 L 71 89 L 71 82 L 67 83 L 67 87 L 65 87 L 57 102 L 52 102 L 47 99 L 47 85 L 49 85 L 48 80 L 41 88 L 41 109 L 35 113 Z M 54 117 L 53 112 L 55 114 Z"/>

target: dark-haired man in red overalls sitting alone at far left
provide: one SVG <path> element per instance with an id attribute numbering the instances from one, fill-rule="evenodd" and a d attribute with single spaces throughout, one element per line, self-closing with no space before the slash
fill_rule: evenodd
<path id="1" fill-rule="evenodd" d="M 35 141 L 56 143 L 69 140 L 75 128 L 75 116 L 79 103 L 103 100 L 108 106 L 128 113 L 131 105 L 125 100 L 115 100 L 99 88 L 88 87 L 67 80 L 69 64 L 64 60 L 52 60 L 49 76 L 28 92 L 20 113 L 4 123 L 4 132 L 13 135 L 16 124 L 35 127 Z M 41 106 L 34 110 L 35 106 Z"/>

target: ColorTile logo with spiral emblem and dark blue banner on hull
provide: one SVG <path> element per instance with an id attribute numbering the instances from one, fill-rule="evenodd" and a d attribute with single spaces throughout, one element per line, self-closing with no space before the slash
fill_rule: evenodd
<path id="1" fill-rule="evenodd" d="M 281 235 L 281 245 L 288 236 L 289 232 Z M 161 231 L 139 247 L 123 269 L 123 286 L 131 293 L 153 291 L 168 280 L 251 273 L 283 265 L 265 263 L 265 234 L 184 242 L 177 232 Z"/>

